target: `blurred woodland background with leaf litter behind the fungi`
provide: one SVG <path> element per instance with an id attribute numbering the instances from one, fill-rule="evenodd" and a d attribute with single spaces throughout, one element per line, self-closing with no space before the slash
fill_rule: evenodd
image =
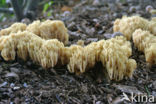
<path id="1" fill-rule="evenodd" d="M 17 21 L 58 19 L 64 21 L 75 43 L 110 38 L 115 19 L 125 15 L 150 19 L 156 17 L 155 8 L 156 0 L 0 0 L 0 29 Z"/>

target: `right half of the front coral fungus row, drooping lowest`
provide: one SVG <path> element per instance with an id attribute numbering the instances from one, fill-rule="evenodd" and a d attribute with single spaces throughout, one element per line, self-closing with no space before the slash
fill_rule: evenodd
<path id="1" fill-rule="evenodd" d="M 68 69 L 77 74 L 93 68 L 97 62 L 102 62 L 109 78 L 122 80 L 124 76 L 131 77 L 136 68 L 136 61 L 129 59 L 132 54 L 130 42 L 124 37 L 93 42 L 84 48 L 79 48 L 70 58 Z"/>

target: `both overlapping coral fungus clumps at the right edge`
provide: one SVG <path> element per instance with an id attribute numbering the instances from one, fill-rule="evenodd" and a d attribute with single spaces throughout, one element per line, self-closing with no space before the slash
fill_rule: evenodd
<path id="1" fill-rule="evenodd" d="M 156 18 L 150 21 L 139 17 L 123 17 L 114 22 L 114 32 L 120 31 L 124 36 L 134 42 L 139 51 L 145 53 L 146 61 L 156 64 Z"/>

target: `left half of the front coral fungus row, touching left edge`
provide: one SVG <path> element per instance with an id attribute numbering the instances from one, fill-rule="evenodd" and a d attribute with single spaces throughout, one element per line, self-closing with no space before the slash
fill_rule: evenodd
<path id="1" fill-rule="evenodd" d="M 59 53 L 64 46 L 57 39 L 44 40 L 27 31 L 12 33 L 0 40 L 1 55 L 5 60 L 14 60 L 17 51 L 18 57 L 23 60 L 30 57 L 44 68 L 57 64 Z"/>

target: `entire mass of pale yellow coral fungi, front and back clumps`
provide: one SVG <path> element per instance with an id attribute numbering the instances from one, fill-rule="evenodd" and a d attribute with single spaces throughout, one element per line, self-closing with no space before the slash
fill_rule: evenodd
<path id="1" fill-rule="evenodd" d="M 67 65 L 71 73 L 82 74 L 102 63 L 101 70 L 111 80 L 122 80 L 131 77 L 137 67 L 131 59 L 130 41 L 145 53 L 146 61 L 156 63 L 156 19 L 148 21 L 139 16 L 123 17 L 114 23 L 114 31 L 124 36 L 100 40 L 84 45 L 65 46 L 68 43 L 67 29 L 62 21 L 34 21 L 32 24 L 15 23 L 0 31 L 1 56 L 6 60 L 15 60 L 16 55 L 27 60 L 30 58 L 48 69 Z M 133 34 L 133 35 L 132 35 Z"/>

